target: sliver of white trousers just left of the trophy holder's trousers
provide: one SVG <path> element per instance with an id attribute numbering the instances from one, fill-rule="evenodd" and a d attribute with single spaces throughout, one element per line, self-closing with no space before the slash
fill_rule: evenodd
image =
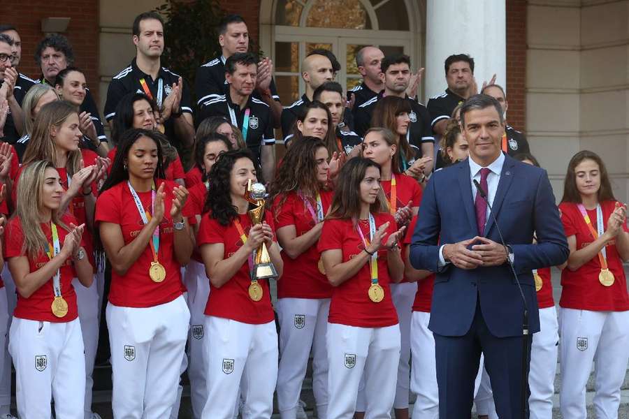
<path id="1" fill-rule="evenodd" d="M 208 396 L 208 361 L 203 351 L 205 335 L 205 304 L 210 296 L 210 280 L 205 274 L 205 265 L 190 260 L 186 267 L 185 286 L 188 290 L 190 309 L 190 333 L 188 336 L 188 378 L 190 399 L 194 418 L 201 418 L 203 406 Z"/>

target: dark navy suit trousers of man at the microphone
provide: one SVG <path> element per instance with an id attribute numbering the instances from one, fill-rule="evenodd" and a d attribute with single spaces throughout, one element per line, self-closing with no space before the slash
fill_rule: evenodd
<path id="1" fill-rule="evenodd" d="M 500 419 L 522 417 L 523 337 L 491 335 L 480 305 L 470 330 L 460 337 L 434 334 L 439 386 L 439 418 L 468 418 L 472 410 L 474 381 L 481 353 L 493 385 L 493 399 Z M 528 381 L 526 381 L 528 392 Z"/>

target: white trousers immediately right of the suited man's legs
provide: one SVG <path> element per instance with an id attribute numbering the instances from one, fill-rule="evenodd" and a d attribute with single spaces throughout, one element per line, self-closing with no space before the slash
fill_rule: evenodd
<path id="1" fill-rule="evenodd" d="M 528 405 L 531 419 L 547 419 L 553 416 L 558 341 L 555 307 L 540 309 L 540 332 L 533 334 L 530 348 Z"/>

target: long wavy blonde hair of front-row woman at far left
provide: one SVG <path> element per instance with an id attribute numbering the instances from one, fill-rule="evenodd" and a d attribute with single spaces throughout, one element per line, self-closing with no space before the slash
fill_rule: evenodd
<path id="1" fill-rule="evenodd" d="M 22 224 L 22 253 L 36 258 L 48 249 L 48 239 L 41 230 L 39 215 L 43 212 L 42 193 L 46 169 L 55 169 L 50 161 L 34 161 L 22 170 L 17 184 L 17 207 L 14 217 Z M 55 169 L 56 170 L 56 169 Z M 69 231 L 65 223 L 59 220 L 59 210 L 52 210 L 51 221 Z M 10 231 L 7 231 L 10 234 Z"/>

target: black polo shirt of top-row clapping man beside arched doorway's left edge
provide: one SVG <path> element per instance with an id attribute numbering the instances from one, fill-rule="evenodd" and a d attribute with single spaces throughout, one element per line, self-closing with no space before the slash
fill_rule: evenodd
<path id="1" fill-rule="evenodd" d="M 229 93 L 229 85 L 227 84 L 227 80 L 225 80 L 225 61 L 226 59 L 224 57 L 217 57 L 196 69 L 194 93 L 196 94 L 196 104 L 198 106 L 208 101 L 211 95 Z M 279 102 L 280 96 L 277 94 L 277 87 L 275 87 L 275 80 L 273 78 L 271 78 L 269 89 L 271 96 Z M 259 91 L 256 89 L 253 91 L 252 96 L 262 100 Z"/>

